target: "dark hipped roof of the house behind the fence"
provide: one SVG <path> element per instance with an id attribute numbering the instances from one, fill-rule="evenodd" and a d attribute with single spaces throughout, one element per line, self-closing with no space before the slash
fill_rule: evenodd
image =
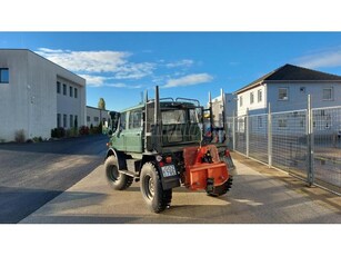
<path id="1" fill-rule="evenodd" d="M 259 86 L 262 82 L 269 81 L 341 81 L 341 76 L 321 72 L 308 68 L 302 68 L 293 65 L 284 65 L 265 76 L 252 81 L 251 83 L 237 90 L 234 93 L 240 93 Z"/>

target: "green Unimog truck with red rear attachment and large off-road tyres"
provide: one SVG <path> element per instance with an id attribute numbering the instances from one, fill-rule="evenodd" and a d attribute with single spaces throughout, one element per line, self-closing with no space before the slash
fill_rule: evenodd
<path id="1" fill-rule="evenodd" d="M 104 163 L 109 185 L 124 190 L 140 181 L 142 197 L 154 213 L 170 206 L 175 187 L 225 194 L 234 166 L 227 141 L 212 144 L 214 127 L 212 121 L 209 129 L 204 127 L 204 112 L 212 116 L 211 108 L 198 100 L 160 99 L 158 87 L 154 99 L 146 97 L 136 107 L 110 111 L 112 131 Z"/>

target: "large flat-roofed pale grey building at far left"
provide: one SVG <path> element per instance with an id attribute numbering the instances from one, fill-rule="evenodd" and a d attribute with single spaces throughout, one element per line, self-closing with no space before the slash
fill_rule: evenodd
<path id="1" fill-rule="evenodd" d="M 26 49 L 0 49 L 0 139 L 86 125 L 86 80 Z"/>

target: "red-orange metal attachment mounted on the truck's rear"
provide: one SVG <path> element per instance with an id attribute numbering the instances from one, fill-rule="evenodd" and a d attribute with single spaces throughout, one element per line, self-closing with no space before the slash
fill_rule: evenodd
<path id="1" fill-rule="evenodd" d="M 210 151 L 212 163 L 202 163 L 202 157 Z M 228 166 L 220 161 L 215 146 L 188 147 L 183 149 L 185 165 L 184 184 L 190 189 L 205 189 L 208 179 L 213 179 L 213 186 L 220 186 L 229 179 Z"/>

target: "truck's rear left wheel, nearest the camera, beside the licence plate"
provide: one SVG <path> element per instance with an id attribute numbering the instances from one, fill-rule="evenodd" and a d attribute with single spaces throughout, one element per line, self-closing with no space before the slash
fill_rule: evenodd
<path id="1" fill-rule="evenodd" d="M 161 179 L 156 166 L 146 163 L 141 169 L 141 193 L 149 209 L 153 213 L 161 213 L 172 200 L 172 189 L 163 190 Z"/>

